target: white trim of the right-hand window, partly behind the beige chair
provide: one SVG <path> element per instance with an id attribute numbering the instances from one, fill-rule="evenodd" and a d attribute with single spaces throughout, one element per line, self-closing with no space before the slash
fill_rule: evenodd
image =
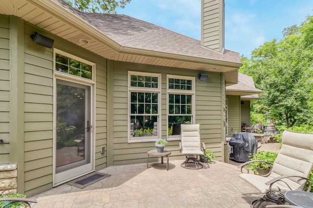
<path id="1" fill-rule="evenodd" d="M 181 90 L 181 89 L 169 89 L 168 85 L 169 79 L 183 79 L 183 80 L 191 80 L 191 90 Z M 169 94 L 185 94 L 185 95 L 191 95 L 191 107 L 192 107 L 192 116 L 191 116 L 191 122 L 192 124 L 196 123 L 196 78 L 195 77 L 188 77 L 188 76 L 179 76 L 179 75 L 167 75 L 166 76 L 166 137 L 168 141 L 177 141 L 181 140 L 180 135 L 168 135 L 168 116 L 169 114 Z M 180 114 L 176 114 L 180 115 Z"/>

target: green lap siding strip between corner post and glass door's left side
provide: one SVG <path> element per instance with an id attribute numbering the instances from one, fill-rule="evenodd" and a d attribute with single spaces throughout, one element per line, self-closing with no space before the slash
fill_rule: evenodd
<path id="1" fill-rule="evenodd" d="M 52 187 L 53 173 L 53 49 L 32 42 L 30 35 L 35 30 L 31 25 L 25 24 L 24 192 L 26 195 Z"/>

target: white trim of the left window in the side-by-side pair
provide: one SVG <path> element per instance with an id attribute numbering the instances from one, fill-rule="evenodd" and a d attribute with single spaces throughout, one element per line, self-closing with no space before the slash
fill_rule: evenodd
<path id="1" fill-rule="evenodd" d="M 139 76 L 151 76 L 157 77 L 157 88 L 150 87 L 132 87 L 131 86 L 131 75 Z M 127 87 L 128 87 L 128 109 L 127 109 L 127 138 L 128 143 L 138 143 L 138 142 L 155 142 L 156 139 L 161 138 L 161 74 L 148 73 L 148 72 L 138 72 L 138 71 L 128 71 L 127 75 Z M 150 137 L 131 137 L 131 92 L 152 92 L 158 93 L 157 96 L 157 135 Z"/>

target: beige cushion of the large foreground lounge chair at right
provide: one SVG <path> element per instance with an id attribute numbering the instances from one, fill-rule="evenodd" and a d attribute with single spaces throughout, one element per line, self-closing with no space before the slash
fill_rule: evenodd
<path id="1" fill-rule="evenodd" d="M 303 180 L 299 183 L 297 181 L 300 177 L 308 178 L 312 168 L 313 134 L 284 131 L 282 135 L 282 146 L 269 176 L 263 177 L 243 173 L 239 177 L 245 179 L 261 193 L 265 193 L 269 190 L 269 186 L 265 184 L 268 181 L 286 175 L 299 176 L 284 178 L 281 181 L 275 182 L 272 189 L 275 190 L 276 188 L 277 190 L 277 187 L 280 187 L 284 193 L 286 190 L 303 190 L 306 181 Z"/>

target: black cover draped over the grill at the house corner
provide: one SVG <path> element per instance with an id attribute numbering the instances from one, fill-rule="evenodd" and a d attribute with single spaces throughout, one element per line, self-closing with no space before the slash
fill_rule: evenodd
<path id="1" fill-rule="evenodd" d="M 256 153 L 258 150 L 258 141 L 247 132 L 235 133 L 229 140 L 229 145 L 233 147 L 233 152 L 229 158 L 238 162 L 247 162 L 250 160 L 249 153 Z"/>

